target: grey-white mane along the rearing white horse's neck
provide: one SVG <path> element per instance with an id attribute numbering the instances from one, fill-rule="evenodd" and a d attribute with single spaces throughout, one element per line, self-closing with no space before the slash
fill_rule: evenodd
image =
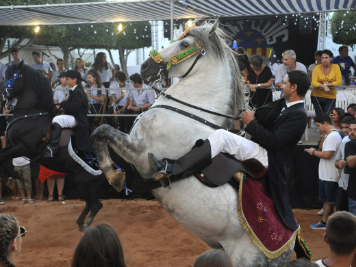
<path id="1" fill-rule="evenodd" d="M 200 20 L 194 20 L 195 27 L 190 29 L 188 36 L 193 36 L 196 42 L 201 42 L 207 56 L 210 60 L 215 62 L 227 61 L 230 64 L 231 71 L 231 88 L 234 88 L 233 93 L 233 107 L 232 116 L 237 116 L 246 106 L 246 97 L 244 96 L 244 90 L 242 88 L 242 76 L 238 62 L 236 62 L 235 56 L 231 48 L 227 45 L 227 35 L 223 30 L 218 27 L 214 31 L 214 34 L 209 34 L 209 31 L 213 29 L 216 20 L 204 21 L 198 25 Z"/>

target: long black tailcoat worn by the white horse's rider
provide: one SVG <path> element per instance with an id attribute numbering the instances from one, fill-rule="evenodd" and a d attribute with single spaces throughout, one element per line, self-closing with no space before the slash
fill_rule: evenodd
<path id="1" fill-rule="evenodd" d="M 283 110 L 268 129 L 255 120 L 245 128 L 245 131 L 251 134 L 251 140 L 268 152 L 267 186 L 283 223 L 292 230 L 296 230 L 297 225 L 290 205 L 288 177 L 294 147 L 301 140 L 306 126 L 304 103 L 297 103 Z"/>

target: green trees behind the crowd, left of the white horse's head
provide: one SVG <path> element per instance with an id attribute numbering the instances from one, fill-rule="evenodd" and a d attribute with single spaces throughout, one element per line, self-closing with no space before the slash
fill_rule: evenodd
<path id="1" fill-rule="evenodd" d="M 51 0 L 51 3 L 84 2 L 87 0 Z M 101 0 L 93 0 L 101 1 Z M 36 5 L 44 4 L 44 0 L 4 0 L 2 5 Z M 112 49 L 118 49 L 120 65 L 127 73 L 127 58 L 134 49 L 151 46 L 151 25 L 148 21 L 123 23 L 82 23 L 76 25 L 42 25 L 38 34 L 34 27 L 14 26 L 0 27 L 0 58 L 10 54 L 12 47 L 17 47 L 23 40 L 47 47 L 60 47 L 64 62 L 68 68 L 69 57 L 74 49 L 106 49 L 112 59 Z M 10 49 L 4 51 L 8 38 L 16 38 Z"/>

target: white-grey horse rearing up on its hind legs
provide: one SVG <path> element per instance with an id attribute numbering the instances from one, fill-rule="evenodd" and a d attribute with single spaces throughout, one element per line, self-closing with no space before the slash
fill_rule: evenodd
<path id="1" fill-rule="evenodd" d="M 187 30 L 177 42 L 157 53 L 158 58 L 162 55 L 163 62 L 170 62 L 168 77 L 182 77 L 199 53 L 205 52 L 190 73 L 166 92 L 203 109 L 236 116 L 236 112 L 243 108 L 244 94 L 238 65 L 224 38 L 225 34 L 218 29 L 218 21 L 205 22 Z M 196 50 L 195 45 L 197 52 L 190 53 Z M 184 50 L 186 53 L 180 53 Z M 179 56 L 172 57 L 179 53 Z M 157 58 L 156 61 L 160 62 Z M 152 58 L 146 60 L 142 64 L 142 77 L 157 75 L 160 71 L 157 62 Z M 153 107 L 157 105 L 177 107 L 226 128 L 232 123 L 231 119 L 199 111 L 164 97 L 157 99 Z M 122 173 L 114 170 L 108 145 L 133 164 L 143 179 L 151 179 L 155 170 L 149 163 L 149 152 L 160 157 L 159 160 L 177 159 L 190 151 L 197 139 L 207 138 L 212 131 L 214 129 L 204 123 L 157 107 L 140 115 L 129 135 L 102 125 L 92 133 L 92 140 L 101 170 L 110 184 L 118 189 Z M 269 259 L 253 244 L 238 219 L 238 190 L 229 183 L 209 188 L 191 176 L 172 183 L 171 188 L 157 188 L 153 194 L 183 227 L 212 248 L 223 247 L 231 256 L 234 266 L 286 266 L 290 261 L 293 245 L 281 256 Z"/>

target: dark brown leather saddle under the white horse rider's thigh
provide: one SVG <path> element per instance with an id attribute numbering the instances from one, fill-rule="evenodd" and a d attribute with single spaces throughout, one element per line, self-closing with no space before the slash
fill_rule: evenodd
<path id="1" fill-rule="evenodd" d="M 196 177 L 206 186 L 215 188 L 227 183 L 231 178 L 240 181 L 240 172 L 259 179 L 266 175 L 268 170 L 256 159 L 239 161 L 227 153 L 219 153 L 212 159 L 212 164 L 201 170 L 201 173 L 196 173 Z"/>

